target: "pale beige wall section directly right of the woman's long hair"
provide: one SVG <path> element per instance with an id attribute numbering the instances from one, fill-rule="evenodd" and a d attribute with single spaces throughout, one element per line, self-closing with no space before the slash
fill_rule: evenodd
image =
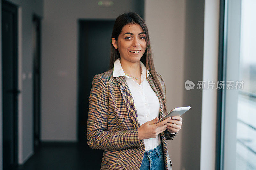
<path id="1" fill-rule="evenodd" d="M 185 0 L 146 0 L 145 22 L 149 29 L 156 71 L 166 84 L 167 110 L 183 106 Z M 182 116 L 183 117 L 183 116 Z M 181 166 L 183 128 L 167 141 L 172 169 Z"/>

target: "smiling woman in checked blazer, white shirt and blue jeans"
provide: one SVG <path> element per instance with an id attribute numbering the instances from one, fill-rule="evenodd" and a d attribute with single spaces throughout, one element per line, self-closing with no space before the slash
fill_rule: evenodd
<path id="1" fill-rule="evenodd" d="M 101 169 L 172 169 L 166 140 L 181 129 L 182 119 L 156 123 L 166 113 L 165 83 L 137 13 L 116 18 L 110 68 L 94 76 L 89 103 L 88 145 L 104 150 Z"/>

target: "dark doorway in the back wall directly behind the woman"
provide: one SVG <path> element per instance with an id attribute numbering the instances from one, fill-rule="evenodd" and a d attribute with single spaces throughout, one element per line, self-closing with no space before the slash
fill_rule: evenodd
<path id="1" fill-rule="evenodd" d="M 79 21 L 78 141 L 80 143 L 87 144 L 88 99 L 92 79 L 96 74 L 103 73 L 109 68 L 110 39 L 114 22 L 113 20 Z M 88 145 L 85 148 L 85 152 L 90 155 L 89 165 L 94 165 L 94 169 L 100 169 L 103 151 L 92 150 Z"/>

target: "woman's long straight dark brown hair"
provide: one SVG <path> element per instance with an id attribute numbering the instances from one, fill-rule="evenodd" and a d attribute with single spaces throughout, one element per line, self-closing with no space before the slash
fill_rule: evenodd
<path id="1" fill-rule="evenodd" d="M 156 86 L 156 89 L 157 89 L 158 93 L 160 94 L 160 98 L 161 98 L 162 103 L 163 103 L 164 114 L 166 114 L 166 101 L 165 101 L 165 97 L 164 97 L 164 96 L 166 96 L 165 82 L 164 82 L 162 76 L 159 73 L 157 73 L 156 70 L 155 70 L 154 63 L 153 63 L 153 58 L 152 58 L 151 45 L 150 45 L 150 41 L 149 41 L 148 28 L 147 28 L 145 22 L 143 21 L 143 19 L 136 12 L 127 12 L 127 13 L 119 15 L 116 18 L 116 21 L 115 21 L 115 24 L 114 24 L 114 27 L 113 27 L 113 31 L 112 31 L 111 39 L 115 38 L 116 41 L 117 41 L 118 36 L 122 32 L 122 28 L 126 24 L 131 24 L 131 23 L 139 24 L 142 27 L 142 29 L 145 33 L 146 51 L 143 54 L 143 56 L 141 57 L 140 61 L 146 66 L 147 70 L 151 74 L 153 82 Z M 111 49 L 110 49 L 110 67 L 109 67 L 109 70 L 114 67 L 114 62 L 116 61 L 116 59 L 118 59 L 120 57 L 118 49 L 114 48 L 111 39 L 110 39 L 110 43 L 111 43 L 110 48 Z M 160 77 L 161 80 L 164 82 L 165 94 L 164 94 L 164 91 L 162 89 L 162 85 L 161 85 L 159 79 L 157 78 L 157 76 Z"/>

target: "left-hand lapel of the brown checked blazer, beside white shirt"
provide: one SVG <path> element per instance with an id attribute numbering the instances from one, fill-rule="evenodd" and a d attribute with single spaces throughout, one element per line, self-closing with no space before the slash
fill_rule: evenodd
<path id="1" fill-rule="evenodd" d="M 120 88 L 121 94 L 123 96 L 124 103 L 128 110 L 129 116 L 131 117 L 132 124 L 133 124 L 134 128 L 137 129 L 140 127 L 140 121 L 139 121 L 139 117 L 137 114 L 134 100 L 132 98 L 132 94 L 127 85 L 127 82 L 126 82 L 124 76 L 116 77 L 116 81 L 118 81 L 119 83 L 122 83 L 119 86 L 119 88 Z"/>

